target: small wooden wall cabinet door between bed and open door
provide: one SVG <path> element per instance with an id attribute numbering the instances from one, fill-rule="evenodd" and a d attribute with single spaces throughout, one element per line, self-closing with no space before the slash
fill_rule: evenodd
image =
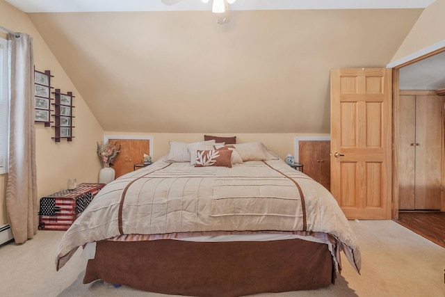
<path id="1" fill-rule="evenodd" d="M 298 163 L 305 166 L 305 174 L 330 190 L 330 141 L 299 141 Z"/>

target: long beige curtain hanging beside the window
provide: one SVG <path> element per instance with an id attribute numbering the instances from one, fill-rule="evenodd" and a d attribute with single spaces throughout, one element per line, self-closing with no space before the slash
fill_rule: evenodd
<path id="1" fill-rule="evenodd" d="M 8 34 L 10 55 L 9 172 L 6 209 L 15 243 L 38 229 L 33 38 Z"/>

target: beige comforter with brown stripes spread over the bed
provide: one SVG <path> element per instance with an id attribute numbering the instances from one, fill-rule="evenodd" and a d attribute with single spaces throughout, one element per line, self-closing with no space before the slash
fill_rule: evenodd
<path id="1" fill-rule="evenodd" d="M 281 159 L 232 168 L 161 159 L 130 172 L 102 188 L 67 230 L 56 268 L 79 246 L 120 234 L 264 230 L 332 234 L 360 269 L 357 239 L 337 201 Z"/>

